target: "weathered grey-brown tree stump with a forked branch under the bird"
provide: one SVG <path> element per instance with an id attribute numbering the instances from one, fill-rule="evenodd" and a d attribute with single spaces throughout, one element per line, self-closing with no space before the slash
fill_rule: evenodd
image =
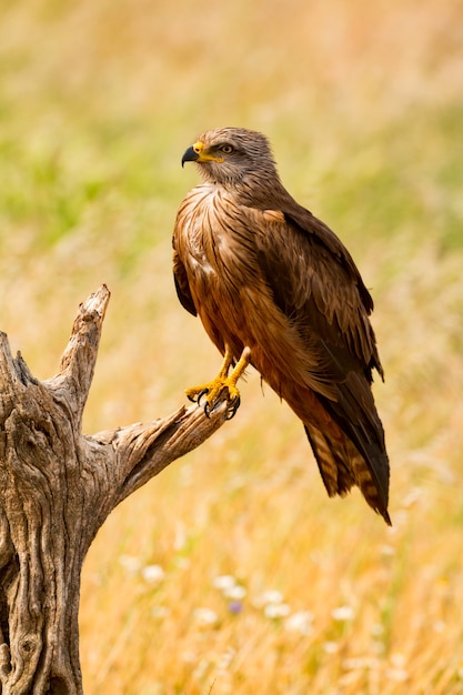
<path id="1" fill-rule="evenodd" d="M 57 376 L 40 382 L 0 333 L 0 692 L 78 695 L 82 563 L 109 513 L 227 420 L 180 407 L 81 432 L 110 293 L 81 304 Z"/>

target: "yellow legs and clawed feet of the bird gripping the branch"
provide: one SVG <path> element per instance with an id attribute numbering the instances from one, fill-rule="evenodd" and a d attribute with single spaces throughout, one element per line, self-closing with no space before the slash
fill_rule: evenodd
<path id="1" fill-rule="evenodd" d="M 246 369 L 251 361 L 251 349 L 244 348 L 241 353 L 241 357 L 235 364 L 232 373 L 229 375 L 230 367 L 233 364 L 233 354 L 229 346 L 225 346 L 225 355 L 219 374 L 211 382 L 202 384 L 201 386 L 192 386 L 187 389 L 187 396 L 190 401 L 200 404 L 201 399 L 205 396 L 204 413 L 210 415 L 215 405 L 220 401 L 220 396 L 227 391 L 229 410 L 227 420 L 231 420 L 240 406 L 240 392 L 236 387 L 236 382 Z"/>

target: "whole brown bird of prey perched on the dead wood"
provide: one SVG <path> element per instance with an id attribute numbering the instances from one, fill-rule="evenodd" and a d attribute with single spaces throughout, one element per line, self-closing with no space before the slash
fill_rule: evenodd
<path id="1" fill-rule="evenodd" d="M 205 411 L 250 363 L 302 421 L 330 496 L 358 485 L 387 524 L 389 461 L 372 372 L 383 377 L 373 300 L 340 239 L 284 189 L 259 132 L 204 132 L 184 152 L 202 183 L 173 232 L 180 302 L 224 355 L 212 382 L 190 389 Z M 234 366 L 231 374 L 230 367 Z"/>

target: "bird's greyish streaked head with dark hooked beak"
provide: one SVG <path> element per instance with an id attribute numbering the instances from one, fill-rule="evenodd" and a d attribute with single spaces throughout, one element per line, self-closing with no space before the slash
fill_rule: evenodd
<path id="1" fill-rule="evenodd" d="M 195 162 L 207 182 L 236 185 L 249 175 L 275 180 L 276 169 L 268 139 L 243 128 L 218 128 L 200 135 L 182 157 Z"/>

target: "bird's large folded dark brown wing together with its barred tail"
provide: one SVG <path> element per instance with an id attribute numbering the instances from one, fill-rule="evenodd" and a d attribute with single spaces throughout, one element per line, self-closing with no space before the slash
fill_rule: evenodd
<path id="1" fill-rule="evenodd" d="M 268 212 L 258 214 L 269 219 Z M 354 482 L 387 521 L 389 462 L 371 392 L 372 370 L 382 375 L 369 321 L 372 299 L 328 226 L 296 203 L 283 215 L 264 238 L 256 236 L 259 266 L 275 304 L 308 350 L 315 351 L 318 373 L 308 375 L 308 384 L 348 437 L 336 442 L 305 422 L 309 440 L 328 492 L 342 494 Z M 318 383 L 329 390 L 318 389 Z"/>

